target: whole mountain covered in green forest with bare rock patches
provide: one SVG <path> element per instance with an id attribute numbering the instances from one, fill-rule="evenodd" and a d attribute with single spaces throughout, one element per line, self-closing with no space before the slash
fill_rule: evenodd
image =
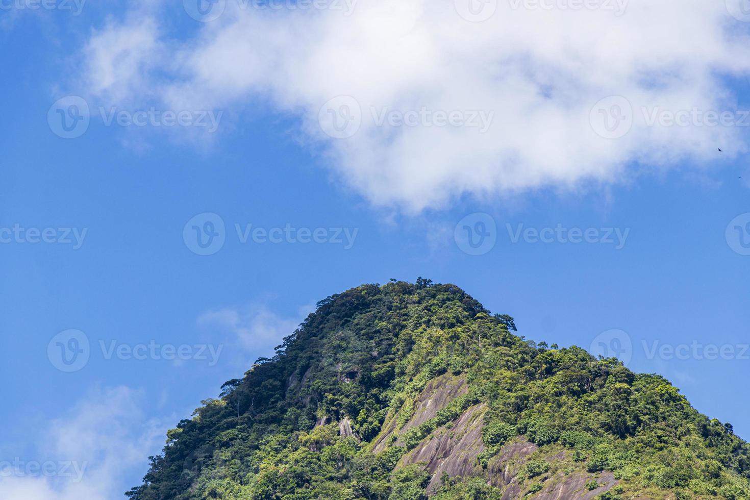
<path id="1" fill-rule="evenodd" d="M 126 495 L 750 498 L 750 447 L 730 424 L 661 376 L 515 330 L 422 278 L 333 295 L 169 430 Z"/>

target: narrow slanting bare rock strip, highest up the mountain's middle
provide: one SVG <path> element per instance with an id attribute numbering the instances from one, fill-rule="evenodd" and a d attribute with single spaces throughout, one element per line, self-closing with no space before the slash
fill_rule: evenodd
<path id="1" fill-rule="evenodd" d="M 398 430 L 398 433 L 403 434 L 412 427 L 424 424 L 436 416 L 437 412 L 448 406 L 456 397 L 465 394 L 467 390 L 466 379 L 463 377 L 450 376 L 446 373 L 431 380 L 414 403 L 414 412 L 411 418 L 402 429 Z M 397 427 L 396 415 L 389 415 L 389 420 L 383 425 L 383 432 L 374 441 L 373 451 L 375 453 L 380 453 L 386 449 L 388 439 L 397 431 Z M 403 443 L 399 440 L 397 444 L 402 445 Z"/>

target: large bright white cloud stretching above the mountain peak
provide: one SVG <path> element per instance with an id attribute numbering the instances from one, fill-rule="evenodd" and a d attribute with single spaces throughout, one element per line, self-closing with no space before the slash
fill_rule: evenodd
<path id="1" fill-rule="evenodd" d="M 179 43 L 149 10 L 92 38 L 89 90 L 118 100 L 147 92 L 172 109 L 270 103 L 299 118 L 306 142 L 345 183 L 374 205 L 406 211 L 440 208 L 465 194 L 607 184 L 630 176 L 634 164 L 716 163 L 717 147 L 724 157 L 747 150 L 748 127 L 646 124 L 655 109 L 736 109 L 724 76 L 750 69 L 750 23 L 730 16 L 724 1 L 593 2 L 624 7 L 615 11 L 508 0 L 484 22 L 458 15 L 467 1 L 360 0 L 346 16 L 228 0 L 220 19 L 196 23 L 197 33 Z M 163 61 L 163 78 L 144 69 Z M 331 139 L 319 115 L 341 95 L 356 99 L 362 124 L 347 139 Z M 599 136 L 595 130 L 606 130 L 589 119 L 608 96 L 624 96 L 633 107 L 632 128 L 618 139 Z M 334 102 L 336 112 L 352 101 Z M 482 111 L 493 120 L 486 133 L 378 126 L 374 112 L 385 108 Z"/>

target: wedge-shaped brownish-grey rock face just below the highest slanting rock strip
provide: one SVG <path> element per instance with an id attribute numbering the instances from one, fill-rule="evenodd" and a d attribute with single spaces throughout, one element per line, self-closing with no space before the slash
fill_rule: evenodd
<path id="1" fill-rule="evenodd" d="M 401 459 L 403 465 L 427 463 L 432 474 L 428 493 L 440 487 L 443 474 L 451 478 L 481 475 L 476 457 L 484 451 L 481 427 L 486 409 L 484 403 L 472 406 L 452 427 L 440 427 Z"/>

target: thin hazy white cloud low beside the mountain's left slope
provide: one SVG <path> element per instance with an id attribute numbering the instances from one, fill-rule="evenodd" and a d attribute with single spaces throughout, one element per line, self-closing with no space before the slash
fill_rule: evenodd
<path id="1" fill-rule="evenodd" d="M 2 464 L 0 499 L 122 498 L 133 486 L 123 479 L 145 472 L 144 457 L 160 451 L 168 428 L 145 418 L 142 407 L 142 394 L 130 388 L 92 391 L 37 436 L 37 456 Z"/>

